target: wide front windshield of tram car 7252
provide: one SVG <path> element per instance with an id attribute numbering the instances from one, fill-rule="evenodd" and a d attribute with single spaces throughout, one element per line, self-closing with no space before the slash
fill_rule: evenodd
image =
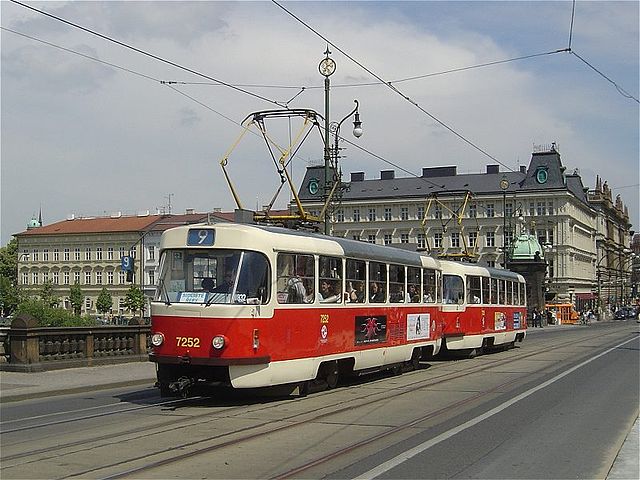
<path id="1" fill-rule="evenodd" d="M 264 304 L 269 300 L 269 261 L 246 250 L 171 249 L 160 259 L 156 301 Z"/>

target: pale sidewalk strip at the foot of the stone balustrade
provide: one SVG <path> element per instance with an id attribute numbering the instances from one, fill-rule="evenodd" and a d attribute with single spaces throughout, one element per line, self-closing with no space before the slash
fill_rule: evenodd
<path id="1" fill-rule="evenodd" d="M 129 385 L 153 386 L 156 366 L 131 362 L 47 372 L 0 372 L 0 403 Z"/>

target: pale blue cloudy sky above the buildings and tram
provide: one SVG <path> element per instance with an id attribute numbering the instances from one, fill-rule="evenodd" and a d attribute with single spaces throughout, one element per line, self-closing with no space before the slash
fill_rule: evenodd
<path id="1" fill-rule="evenodd" d="M 567 171 L 591 189 L 606 180 L 639 230 L 637 1 L 577 1 L 573 15 L 562 1 L 24 3 L 120 43 L 0 3 L 0 245 L 40 211 L 50 224 L 233 210 L 220 160 L 241 122 L 285 105 L 324 116 L 327 46 L 329 118 L 357 99 L 363 122 L 359 139 L 349 119 L 340 131 L 353 143 L 341 144 L 345 180 L 517 170 L 555 142 Z M 301 125 L 265 127 L 283 147 Z M 227 164 L 250 209 L 280 183 L 253 132 Z M 289 164 L 295 185 L 322 160 L 313 131 Z M 283 190 L 274 207 L 288 201 Z"/>

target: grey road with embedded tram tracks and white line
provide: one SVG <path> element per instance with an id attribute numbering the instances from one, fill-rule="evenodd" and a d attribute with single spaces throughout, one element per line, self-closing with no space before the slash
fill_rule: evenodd
<path id="1" fill-rule="evenodd" d="M 0 477 L 607 478 L 638 417 L 639 327 L 531 330 L 306 398 L 146 386 L 2 404 Z"/>

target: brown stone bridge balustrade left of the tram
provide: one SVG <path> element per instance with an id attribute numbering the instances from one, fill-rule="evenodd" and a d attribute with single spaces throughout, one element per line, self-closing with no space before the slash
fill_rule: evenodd
<path id="1" fill-rule="evenodd" d="M 137 318 L 129 325 L 40 327 L 33 317 L 18 316 L 8 330 L 4 327 L 0 331 L 0 335 L 6 332 L 4 339 L 0 336 L 0 355 L 5 358 L 4 362 L 0 359 L 0 370 L 40 372 L 146 362 L 150 330 Z"/>

